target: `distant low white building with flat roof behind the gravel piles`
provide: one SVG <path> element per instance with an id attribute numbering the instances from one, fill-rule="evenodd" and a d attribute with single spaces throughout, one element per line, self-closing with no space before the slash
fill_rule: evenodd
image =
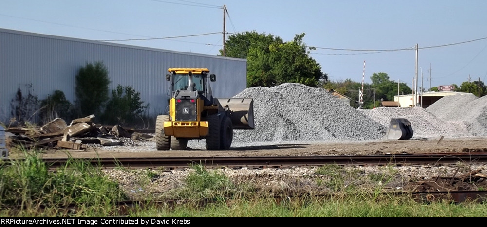
<path id="1" fill-rule="evenodd" d="M 436 101 L 440 100 L 441 98 L 449 95 L 466 95 L 466 94 L 471 94 L 471 93 L 465 93 L 465 92 L 456 92 L 456 91 L 428 91 L 428 92 L 423 92 L 423 108 L 427 108 L 431 104 L 435 103 Z M 413 107 L 413 95 L 408 94 L 408 95 L 399 95 L 399 96 L 394 96 L 394 101 L 399 102 L 400 107 Z M 417 101 L 418 106 L 421 105 L 421 95 L 418 95 L 418 101 Z"/>

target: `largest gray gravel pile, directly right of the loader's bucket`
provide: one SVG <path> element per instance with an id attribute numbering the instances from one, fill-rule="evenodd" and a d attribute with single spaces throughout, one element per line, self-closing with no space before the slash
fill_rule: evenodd
<path id="1" fill-rule="evenodd" d="M 236 142 L 375 140 L 385 128 L 323 88 L 286 83 L 251 87 L 235 98 L 253 98 L 254 130 L 235 130 Z"/>

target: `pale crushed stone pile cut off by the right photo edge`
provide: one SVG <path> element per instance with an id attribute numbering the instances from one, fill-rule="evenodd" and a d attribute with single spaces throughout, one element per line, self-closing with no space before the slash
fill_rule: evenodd
<path id="1" fill-rule="evenodd" d="M 473 136 L 487 136 L 487 96 L 456 94 L 441 98 L 427 111 L 456 127 L 466 128 Z"/>

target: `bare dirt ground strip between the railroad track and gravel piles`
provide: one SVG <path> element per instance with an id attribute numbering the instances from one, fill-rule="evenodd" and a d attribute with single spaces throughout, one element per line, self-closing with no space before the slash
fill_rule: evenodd
<path id="1" fill-rule="evenodd" d="M 139 146 L 89 148 L 86 150 L 45 150 L 43 158 L 86 157 L 213 157 L 213 156 L 313 156 L 372 155 L 406 153 L 487 152 L 487 138 L 440 138 L 414 140 L 374 140 L 363 142 L 266 143 L 264 145 L 232 145 L 227 151 L 202 149 L 157 151 L 155 143 L 139 142 Z M 10 157 L 19 157 L 11 152 Z"/>

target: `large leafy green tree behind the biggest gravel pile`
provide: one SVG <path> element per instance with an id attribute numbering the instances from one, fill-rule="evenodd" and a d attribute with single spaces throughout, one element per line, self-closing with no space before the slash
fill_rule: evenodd
<path id="1" fill-rule="evenodd" d="M 318 87 L 328 76 L 309 56 L 314 48 L 303 43 L 304 35 L 296 35 L 289 42 L 256 32 L 230 35 L 225 42 L 226 56 L 247 59 L 247 87 L 273 87 L 282 83 Z"/>

